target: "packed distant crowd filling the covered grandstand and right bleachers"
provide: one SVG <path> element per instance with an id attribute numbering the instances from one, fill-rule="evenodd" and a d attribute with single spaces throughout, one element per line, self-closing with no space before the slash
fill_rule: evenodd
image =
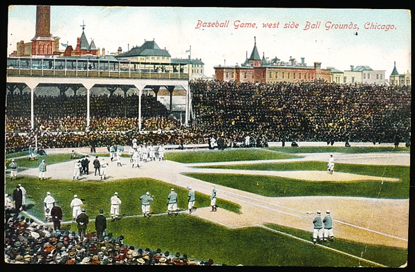
<path id="1" fill-rule="evenodd" d="M 324 82 L 273 84 L 190 82 L 193 114 L 184 127 L 151 95 L 142 96 L 142 131 L 138 132 L 138 96 L 91 96 L 86 127 L 86 97 L 35 96 L 35 129 L 30 127 L 30 95 L 7 96 L 6 150 L 209 143 L 214 136 L 228 146 L 244 142 L 408 141 L 411 87 Z"/>

